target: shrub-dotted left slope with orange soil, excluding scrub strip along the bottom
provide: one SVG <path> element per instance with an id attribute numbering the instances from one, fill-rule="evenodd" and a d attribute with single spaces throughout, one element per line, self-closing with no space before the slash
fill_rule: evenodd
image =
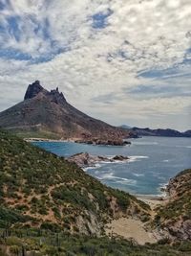
<path id="1" fill-rule="evenodd" d="M 63 157 L 0 131 L 0 227 L 33 226 L 100 235 L 105 222 L 149 207 L 108 188 Z"/>

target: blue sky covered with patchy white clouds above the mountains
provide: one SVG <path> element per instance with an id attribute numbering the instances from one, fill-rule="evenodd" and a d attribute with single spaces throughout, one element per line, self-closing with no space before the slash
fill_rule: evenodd
<path id="1" fill-rule="evenodd" d="M 28 84 L 112 125 L 191 128 L 191 0 L 0 0 L 0 111 Z"/>

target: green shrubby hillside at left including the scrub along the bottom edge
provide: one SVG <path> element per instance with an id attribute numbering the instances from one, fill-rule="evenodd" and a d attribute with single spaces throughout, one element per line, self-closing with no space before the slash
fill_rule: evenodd
<path id="1" fill-rule="evenodd" d="M 1 256 L 188 256 L 189 242 L 143 246 L 99 237 L 106 222 L 149 220 L 150 208 L 63 157 L 0 130 Z"/>

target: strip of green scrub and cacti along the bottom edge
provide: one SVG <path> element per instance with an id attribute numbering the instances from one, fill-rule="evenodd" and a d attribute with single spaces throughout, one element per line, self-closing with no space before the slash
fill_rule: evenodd
<path id="1" fill-rule="evenodd" d="M 42 230 L 13 230 L 0 240 L 0 256 L 189 256 L 191 243 L 145 244 L 123 239 L 70 236 Z"/>

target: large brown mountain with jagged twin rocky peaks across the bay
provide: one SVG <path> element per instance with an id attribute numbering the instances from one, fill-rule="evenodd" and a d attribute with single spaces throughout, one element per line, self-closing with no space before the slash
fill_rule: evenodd
<path id="1" fill-rule="evenodd" d="M 13 130 L 24 137 L 36 138 L 99 138 L 121 141 L 132 133 L 82 113 L 66 101 L 58 88 L 48 91 L 39 81 L 29 85 L 23 102 L 0 113 L 0 127 Z"/>

